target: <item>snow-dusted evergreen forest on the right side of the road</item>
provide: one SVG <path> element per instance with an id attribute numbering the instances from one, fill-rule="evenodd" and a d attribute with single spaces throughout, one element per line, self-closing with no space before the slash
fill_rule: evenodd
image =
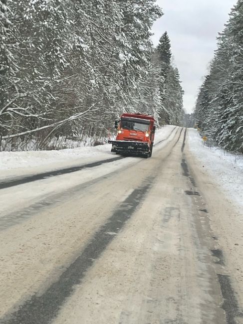
<path id="1" fill-rule="evenodd" d="M 243 154 L 243 0 L 238 0 L 219 34 L 195 118 L 211 144 Z"/>

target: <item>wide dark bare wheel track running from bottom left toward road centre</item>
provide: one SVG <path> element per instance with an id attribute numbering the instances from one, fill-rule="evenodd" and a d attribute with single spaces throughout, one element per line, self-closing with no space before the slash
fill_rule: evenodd
<path id="1" fill-rule="evenodd" d="M 0 319 L 0 324 L 47 324 L 57 315 L 66 299 L 79 285 L 109 243 L 132 216 L 150 190 L 155 177 L 145 179 L 145 185 L 135 189 L 100 227 L 83 249 L 81 255 L 62 273 L 41 296 L 33 295 L 18 310 Z M 114 233 L 114 234 L 113 234 Z M 112 235 L 111 235 L 112 234 Z"/>

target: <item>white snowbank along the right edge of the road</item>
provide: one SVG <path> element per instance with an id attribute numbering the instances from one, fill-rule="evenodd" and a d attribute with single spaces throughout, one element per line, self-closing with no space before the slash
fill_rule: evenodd
<path id="1" fill-rule="evenodd" d="M 203 146 L 195 129 L 188 130 L 189 149 L 227 196 L 243 208 L 243 156 Z"/>

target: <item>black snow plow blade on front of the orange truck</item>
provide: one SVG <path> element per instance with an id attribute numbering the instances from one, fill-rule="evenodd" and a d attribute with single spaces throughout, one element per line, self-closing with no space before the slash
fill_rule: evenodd
<path id="1" fill-rule="evenodd" d="M 147 142 L 136 142 L 136 141 L 108 141 L 112 144 L 111 152 L 118 154 L 149 154 L 150 149 Z"/>

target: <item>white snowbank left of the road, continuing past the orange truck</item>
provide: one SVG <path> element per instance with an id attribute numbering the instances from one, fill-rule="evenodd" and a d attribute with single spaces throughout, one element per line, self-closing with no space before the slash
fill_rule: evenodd
<path id="1" fill-rule="evenodd" d="M 155 143 L 167 138 L 174 128 L 170 125 L 157 130 Z M 105 144 L 59 151 L 0 152 L 0 178 L 112 159 L 115 155 L 110 151 L 111 145 Z"/>

